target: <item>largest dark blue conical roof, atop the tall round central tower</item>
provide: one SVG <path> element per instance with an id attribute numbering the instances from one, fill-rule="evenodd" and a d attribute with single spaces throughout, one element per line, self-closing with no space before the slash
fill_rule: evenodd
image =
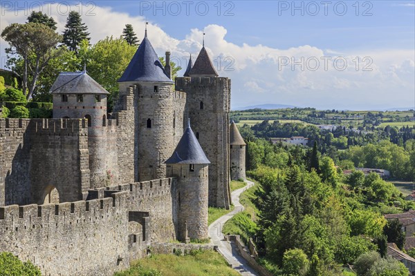
<path id="1" fill-rule="evenodd" d="M 118 81 L 173 82 L 167 77 L 165 68 L 147 39 L 147 30 L 137 52 Z"/>

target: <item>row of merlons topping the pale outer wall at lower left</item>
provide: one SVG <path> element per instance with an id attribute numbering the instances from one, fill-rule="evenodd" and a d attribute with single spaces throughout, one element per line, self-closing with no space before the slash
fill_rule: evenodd
<path id="1" fill-rule="evenodd" d="M 104 210 L 104 212 L 108 212 L 110 208 L 122 206 L 125 202 L 124 198 L 127 195 L 127 191 L 120 191 L 113 193 L 111 197 L 88 201 L 64 202 L 61 204 L 3 206 L 0 207 L 0 226 L 1 224 L 16 224 L 17 219 L 29 219 L 30 223 L 34 223 L 35 219 L 50 219 L 52 216 L 55 218 L 53 220 L 56 220 L 58 216 L 66 219 L 69 215 L 75 216 L 75 219 L 81 219 L 82 217 L 86 217 L 86 212 L 92 210 Z"/>

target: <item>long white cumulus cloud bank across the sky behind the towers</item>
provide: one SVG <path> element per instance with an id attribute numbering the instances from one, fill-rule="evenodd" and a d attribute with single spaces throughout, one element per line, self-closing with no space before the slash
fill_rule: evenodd
<path id="1" fill-rule="evenodd" d="M 64 30 L 69 10 L 59 11 L 50 5 L 50 13 L 58 31 Z M 119 37 L 126 23 L 131 23 L 144 37 L 145 18 L 116 12 L 111 7 L 82 6 L 82 19 L 95 43 L 107 36 Z M 23 23 L 28 13 L 3 10 L 0 26 Z M 347 52 L 304 45 L 287 49 L 265 45 L 238 45 L 226 38 L 225 26 L 210 24 L 203 30 L 183 29 L 184 39 L 167 34 L 157 22 L 149 22 L 149 39 L 158 55 L 172 52 L 172 59 L 183 68 L 190 54 L 201 49 L 203 32 L 205 46 L 219 75 L 232 79 L 232 106 L 259 103 L 286 103 L 316 108 L 388 108 L 410 106 L 415 94 L 414 50 L 389 49 Z M 5 41 L 0 41 L 1 56 Z M 3 59 L 4 60 L 4 59 Z"/>

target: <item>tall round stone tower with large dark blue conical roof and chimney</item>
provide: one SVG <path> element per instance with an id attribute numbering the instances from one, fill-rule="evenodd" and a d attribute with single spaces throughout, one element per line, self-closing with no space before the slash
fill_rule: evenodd
<path id="1" fill-rule="evenodd" d="M 174 149 L 174 135 L 183 132 L 183 118 L 176 124 L 174 83 L 151 46 L 147 30 L 118 82 L 120 91 L 134 86 L 135 137 L 130 139 L 134 139 L 135 180 L 163 178 L 165 161 Z"/>

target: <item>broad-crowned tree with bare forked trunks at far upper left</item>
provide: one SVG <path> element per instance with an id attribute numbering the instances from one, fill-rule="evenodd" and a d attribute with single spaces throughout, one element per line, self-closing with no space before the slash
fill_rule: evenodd
<path id="1" fill-rule="evenodd" d="M 8 54 L 17 54 L 23 59 L 22 87 L 25 95 L 28 88 L 26 99 L 30 99 L 50 59 L 62 55 L 62 50 L 56 49 L 61 36 L 42 23 L 12 23 L 1 32 L 1 37 L 10 44 Z"/>

